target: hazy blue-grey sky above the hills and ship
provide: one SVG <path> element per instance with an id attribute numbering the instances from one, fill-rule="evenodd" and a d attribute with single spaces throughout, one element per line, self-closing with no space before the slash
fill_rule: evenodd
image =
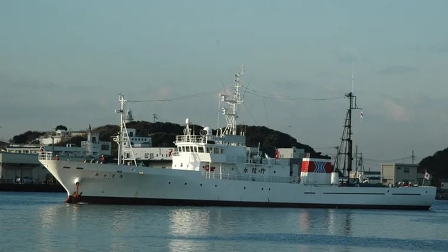
<path id="1" fill-rule="evenodd" d="M 238 123 L 333 156 L 354 92 L 365 169 L 448 147 L 445 0 L 0 0 L 0 139 L 135 120 Z M 352 78 L 354 76 L 354 78 Z M 159 101 L 163 100 L 163 101 Z"/>

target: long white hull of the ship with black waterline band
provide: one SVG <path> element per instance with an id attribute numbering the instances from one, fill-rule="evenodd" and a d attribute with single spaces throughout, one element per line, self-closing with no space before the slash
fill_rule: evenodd
<path id="1" fill-rule="evenodd" d="M 41 160 L 68 202 L 229 207 L 429 209 L 435 187 L 337 187 L 154 167 Z"/>

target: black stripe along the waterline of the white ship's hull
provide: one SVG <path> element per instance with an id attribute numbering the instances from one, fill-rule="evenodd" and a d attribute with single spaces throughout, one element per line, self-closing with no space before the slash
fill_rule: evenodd
<path id="1" fill-rule="evenodd" d="M 401 209 L 401 210 L 427 210 L 431 205 L 379 205 L 379 204 L 308 204 L 283 202 L 239 202 L 221 200 L 172 200 L 159 198 L 118 198 L 81 196 L 78 199 L 69 196 L 70 203 L 90 204 L 152 204 L 164 206 L 197 206 L 197 207 L 294 207 L 294 208 L 326 208 L 326 209 Z"/>

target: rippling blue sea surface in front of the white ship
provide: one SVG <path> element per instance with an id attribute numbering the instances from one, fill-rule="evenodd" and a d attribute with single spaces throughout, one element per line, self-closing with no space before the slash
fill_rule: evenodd
<path id="1" fill-rule="evenodd" d="M 448 251 L 429 211 L 66 204 L 0 192 L 0 251 Z"/>

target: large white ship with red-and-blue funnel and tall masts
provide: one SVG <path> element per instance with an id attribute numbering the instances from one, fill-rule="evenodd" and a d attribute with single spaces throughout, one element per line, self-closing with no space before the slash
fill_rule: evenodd
<path id="1" fill-rule="evenodd" d="M 242 74 L 243 68 L 236 74 L 234 94 L 221 95 L 231 106 L 223 111 L 225 129 L 213 135 L 204 127 L 196 134 L 187 119 L 184 134 L 176 136 L 169 169 L 136 164 L 131 145 L 124 144 L 129 139 L 123 96 L 116 110 L 121 114 L 121 130 L 114 139 L 117 164 L 54 160 L 47 151 L 39 154 L 39 161 L 63 185 L 70 203 L 356 209 L 429 209 L 434 203 L 436 187 L 340 185 L 330 160 L 314 158 L 303 158 L 300 175 L 292 176 L 299 173 L 292 171 L 289 160 L 248 151 L 245 136 L 236 131 Z"/>

